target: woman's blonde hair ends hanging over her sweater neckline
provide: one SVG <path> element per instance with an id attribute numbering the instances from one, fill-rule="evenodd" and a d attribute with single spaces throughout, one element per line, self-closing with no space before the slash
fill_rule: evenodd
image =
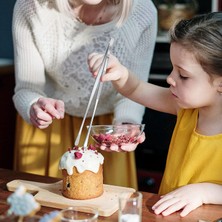
<path id="1" fill-rule="evenodd" d="M 65 13 L 66 15 L 74 16 L 71 11 L 70 3 L 74 0 L 55 0 L 57 7 L 60 12 Z M 114 20 L 116 25 L 120 27 L 128 18 L 131 9 L 132 9 L 132 1 L 133 0 L 103 0 L 108 4 L 119 5 L 117 12 L 115 13 Z"/>

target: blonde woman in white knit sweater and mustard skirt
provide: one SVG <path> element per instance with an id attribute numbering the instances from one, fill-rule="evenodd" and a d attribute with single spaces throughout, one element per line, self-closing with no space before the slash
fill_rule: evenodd
<path id="1" fill-rule="evenodd" d="M 60 177 L 59 159 L 74 144 L 94 84 L 88 55 L 114 38 L 111 52 L 147 81 L 156 33 L 149 0 L 17 0 L 15 169 Z M 93 123 L 140 123 L 143 113 L 107 83 Z M 133 152 L 103 155 L 104 183 L 137 188 Z"/>

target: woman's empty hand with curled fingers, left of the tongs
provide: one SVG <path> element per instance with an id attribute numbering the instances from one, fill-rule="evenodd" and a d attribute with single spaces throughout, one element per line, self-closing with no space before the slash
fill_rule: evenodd
<path id="1" fill-rule="evenodd" d="M 30 121 L 39 129 L 47 128 L 53 119 L 63 119 L 64 102 L 51 98 L 39 98 L 30 108 Z"/>

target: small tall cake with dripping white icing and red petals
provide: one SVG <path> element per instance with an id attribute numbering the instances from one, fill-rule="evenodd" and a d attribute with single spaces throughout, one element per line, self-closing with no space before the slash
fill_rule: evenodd
<path id="1" fill-rule="evenodd" d="M 85 200 L 103 194 L 104 157 L 95 147 L 73 147 L 63 154 L 59 169 L 63 174 L 62 194 Z"/>

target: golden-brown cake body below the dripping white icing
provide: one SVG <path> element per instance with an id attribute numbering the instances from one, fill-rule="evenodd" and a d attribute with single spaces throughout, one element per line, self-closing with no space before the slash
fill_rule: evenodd
<path id="1" fill-rule="evenodd" d="M 73 174 L 69 175 L 66 169 L 63 174 L 63 196 L 70 199 L 85 200 L 99 197 L 103 194 L 103 167 L 100 165 L 99 171 L 94 173 L 85 170 L 79 173 L 73 167 Z"/>

